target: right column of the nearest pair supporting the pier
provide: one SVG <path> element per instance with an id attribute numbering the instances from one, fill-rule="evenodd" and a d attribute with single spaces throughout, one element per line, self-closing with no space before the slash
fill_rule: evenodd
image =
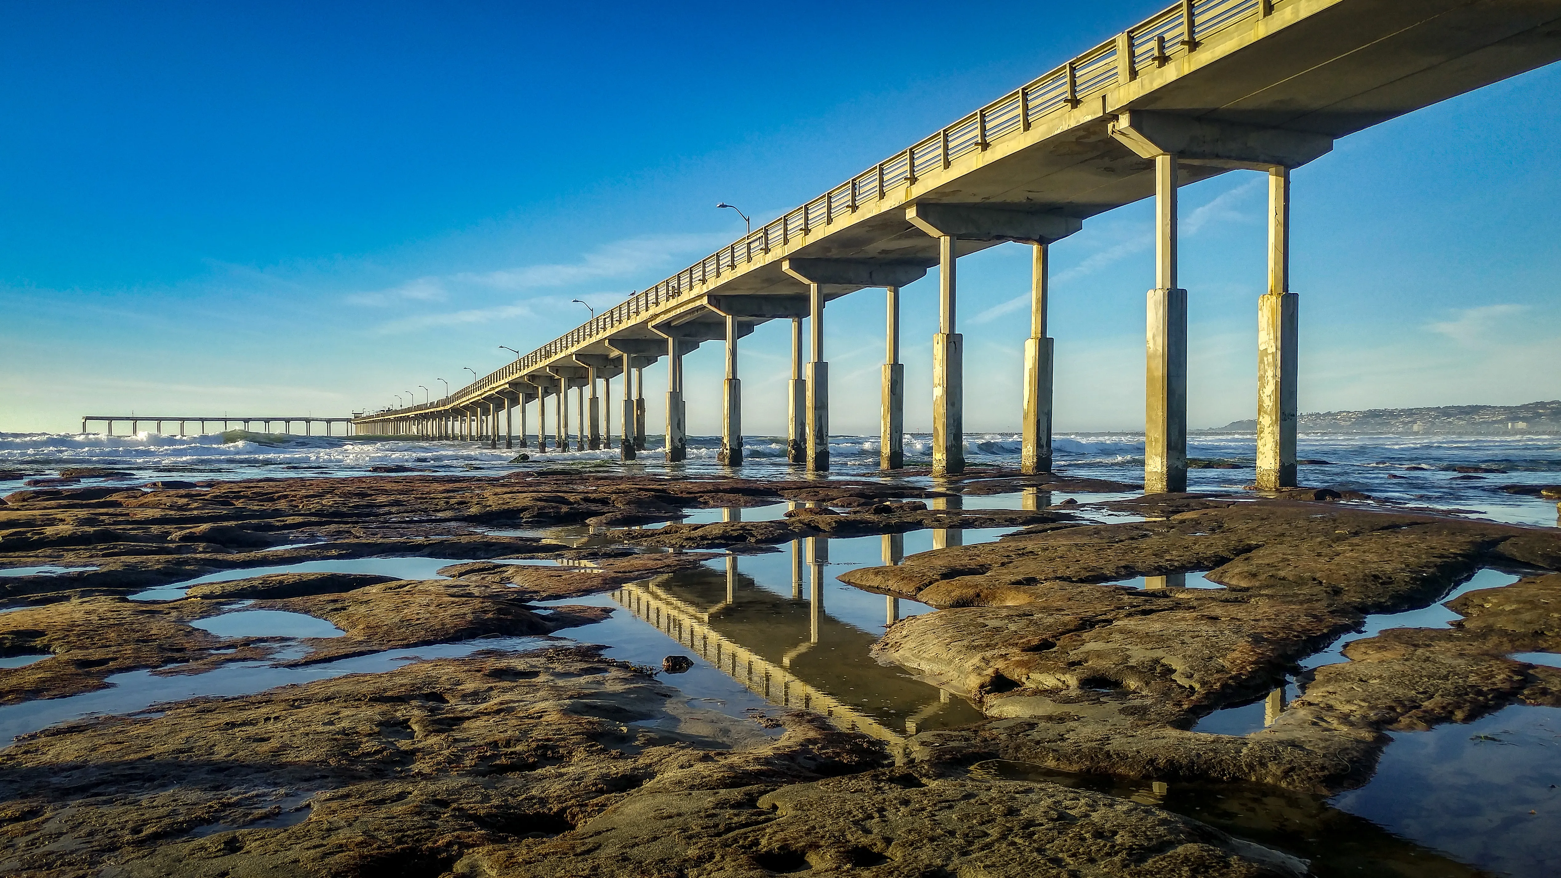
<path id="1" fill-rule="evenodd" d="M 1297 316 L 1289 292 L 1289 169 L 1269 170 L 1269 291 L 1258 300 L 1258 489 L 1296 487 Z"/>

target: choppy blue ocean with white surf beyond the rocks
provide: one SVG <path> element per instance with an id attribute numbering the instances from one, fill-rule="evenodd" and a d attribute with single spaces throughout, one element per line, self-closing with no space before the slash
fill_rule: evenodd
<path id="1" fill-rule="evenodd" d="M 651 450 L 631 466 L 648 472 L 668 472 L 656 450 L 659 436 L 649 437 Z M 503 442 L 501 442 L 503 445 Z M 726 472 L 715 456 L 720 441 L 713 436 L 690 437 L 688 461 L 674 472 Z M 877 472 L 876 436 L 830 437 L 832 476 L 852 478 Z M 1063 433 L 1054 439 L 1054 469 L 1069 476 L 1143 480 L 1143 434 Z M 512 462 L 517 455 L 524 462 Z M 969 434 L 966 462 L 1008 466 L 1019 462 L 1019 436 L 1015 433 Z M 751 436 L 743 444 L 741 473 L 759 478 L 801 475 L 785 461 L 785 444 L 777 437 Z M 1188 489 L 1236 492 L 1252 484 L 1255 441 L 1250 433 L 1197 431 L 1188 437 L 1188 456 L 1233 469 L 1193 469 Z M 1360 436 L 1302 434 L 1299 481 L 1307 487 L 1360 491 L 1406 506 L 1455 511 L 1509 523 L 1556 526 L 1556 501 L 1533 494 L 1503 491 L 1509 486 L 1561 484 L 1561 436 Z M 517 467 L 620 466 L 618 451 L 549 451 L 534 448 L 487 448 L 476 442 L 387 439 L 376 436 L 281 436 L 229 431 L 204 436 L 134 436 L 69 433 L 0 433 L 0 494 L 23 487 L 23 480 L 53 476 L 64 467 L 109 467 L 134 473 L 120 476 L 125 484 L 150 480 L 233 480 L 365 475 L 370 467 L 411 467 L 431 473 L 500 473 Z M 905 466 L 932 464 L 930 436 L 905 436 Z M 1460 472 L 1460 467 L 1464 472 Z M 1480 472 L 1467 472 L 1480 470 Z M 916 480 L 916 481 L 926 481 Z M 83 484 L 103 484 L 87 478 Z"/>

